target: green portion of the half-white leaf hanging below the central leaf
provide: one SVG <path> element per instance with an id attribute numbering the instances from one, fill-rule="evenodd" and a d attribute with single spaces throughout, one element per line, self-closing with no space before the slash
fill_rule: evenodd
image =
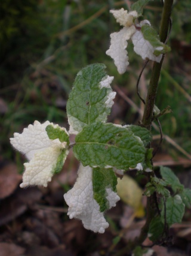
<path id="1" fill-rule="evenodd" d="M 109 209 L 106 188 L 116 192 L 117 177 L 112 168 L 93 168 L 93 192 L 94 199 L 100 206 L 100 212 Z"/>

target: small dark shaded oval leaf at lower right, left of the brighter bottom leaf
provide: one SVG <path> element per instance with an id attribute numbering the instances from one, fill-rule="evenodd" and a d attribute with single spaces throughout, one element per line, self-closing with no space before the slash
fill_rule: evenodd
<path id="1" fill-rule="evenodd" d="M 162 238 L 164 233 L 164 224 L 161 221 L 160 216 L 156 216 L 152 219 L 149 225 L 149 239 L 155 242 Z"/>

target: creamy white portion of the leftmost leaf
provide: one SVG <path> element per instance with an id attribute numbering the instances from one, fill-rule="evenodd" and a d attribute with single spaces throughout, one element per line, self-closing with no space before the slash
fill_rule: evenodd
<path id="1" fill-rule="evenodd" d="M 45 129 L 50 124 L 53 125 L 49 121 L 44 124 L 35 121 L 33 125 L 24 128 L 21 134 L 14 133 L 14 138 L 10 138 L 11 144 L 30 160 L 24 164 L 25 171 L 23 183 L 20 184 L 21 188 L 29 185 L 47 186 L 54 174 L 58 156 L 63 150 L 61 161 L 64 163 L 66 159 L 68 153 L 68 150 L 65 149 L 66 142 L 61 143 L 58 138 L 50 140 L 48 137 Z M 55 125 L 53 126 L 55 127 Z"/>

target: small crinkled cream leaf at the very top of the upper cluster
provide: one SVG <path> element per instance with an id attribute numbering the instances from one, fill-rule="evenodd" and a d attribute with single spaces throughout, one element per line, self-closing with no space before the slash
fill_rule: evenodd
<path id="1" fill-rule="evenodd" d="M 116 22 L 118 22 L 121 26 L 132 26 L 134 18 L 137 18 L 138 14 L 137 11 L 130 11 L 128 13 L 127 10 L 124 10 L 124 8 L 121 8 L 120 10 L 110 10 L 110 13 L 113 14 L 113 16 L 116 19 Z"/>

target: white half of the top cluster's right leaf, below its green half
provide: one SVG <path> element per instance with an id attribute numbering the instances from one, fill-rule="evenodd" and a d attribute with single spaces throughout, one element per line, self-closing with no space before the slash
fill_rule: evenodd
<path id="1" fill-rule="evenodd" d="M 155 56 L 153 52 L 156 50 L 149 41 L 145 40 L 141 31 L 136 31 L 131 40 L 134 44 L 134 51 L 141 56 L 142 59 L 150 59 L 151 61 L 160 62 L 162 54 Z"/>

